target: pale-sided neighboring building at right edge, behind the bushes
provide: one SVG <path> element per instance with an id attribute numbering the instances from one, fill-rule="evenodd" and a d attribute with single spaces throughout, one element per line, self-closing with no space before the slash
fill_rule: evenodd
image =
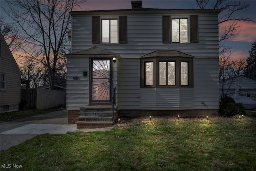
<path id="1" fill-rule="evenodd" d="M 256 101 L 256 81 L 244 76 L 220 81 L 220 96 L 244 96 Z"/>

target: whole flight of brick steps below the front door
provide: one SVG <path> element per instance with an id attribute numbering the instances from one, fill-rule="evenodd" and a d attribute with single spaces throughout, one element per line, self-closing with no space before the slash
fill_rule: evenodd
<path id="1" fill-rule="evenodd" d="M 116 108 L 113 116 L 112 106 L 86 106 L 80 110 L 76 129 L 112 127 L 116 119 Z"/>

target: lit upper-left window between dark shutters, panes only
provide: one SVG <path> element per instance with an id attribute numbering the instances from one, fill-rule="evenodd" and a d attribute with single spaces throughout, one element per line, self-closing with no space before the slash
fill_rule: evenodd
<path id="1" fill-rule="evenodd" d="M 102 20 L 102 43 L 118 43 L 117 19 Z"/>

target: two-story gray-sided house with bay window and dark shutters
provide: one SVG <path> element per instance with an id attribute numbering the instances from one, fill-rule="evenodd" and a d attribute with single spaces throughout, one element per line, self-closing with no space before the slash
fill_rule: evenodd
<path id="1" fill-rule="evenodd" d="M 112 102 L 118 115 L 218 115 L 220 10 L 141 7 L 70 12 L 68 123 Z"/>

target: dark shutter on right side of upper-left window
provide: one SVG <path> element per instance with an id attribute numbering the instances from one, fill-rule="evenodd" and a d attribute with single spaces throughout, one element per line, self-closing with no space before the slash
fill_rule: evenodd
<path id="1" fill-rule="evenodd" d="M 127 43 L 127 16 L 119 16 L 119 43 Z"/>

